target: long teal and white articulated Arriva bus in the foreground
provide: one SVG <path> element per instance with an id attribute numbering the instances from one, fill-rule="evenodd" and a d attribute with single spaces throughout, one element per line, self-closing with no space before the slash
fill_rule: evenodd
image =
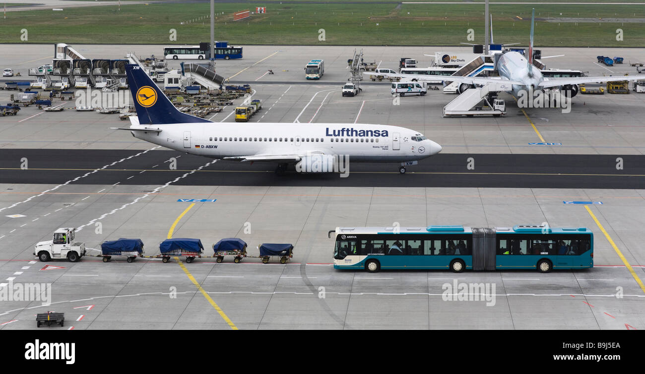
<path id="1" fill-rule="evenodd" d="M 593 267 L 593 233 L 547 226 L 337 227 L 337 269 L 470 270 L 581 269 Z"/>

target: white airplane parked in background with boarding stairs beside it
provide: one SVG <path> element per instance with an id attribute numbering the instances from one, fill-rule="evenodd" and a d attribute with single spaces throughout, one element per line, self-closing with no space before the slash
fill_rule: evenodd
<path id="1" fill-rule="evenodd" d="M 535 21 L 535 9 L 531 15 L 531 36 L 528 48 L 528 59 L 516 51 L 502 53 L 497 62 L 499 77 L 457 77 L 450 75 L 446 77 L 449 82 L 461 82 L 459 92 L 462 93 L 468 88 L 475 85 L 483 86 L 492 83 L 500 85 L 502 91 L 512 91 L 516 97 L 520 96 L 520 91 L 537 91 L 544 88 L 560 87 L 561 91 L 570 91 L 570 97 L 578 93 L 578 84 L 593 82 L 615 82 L 617 80 L 639 80 L 642 77 L 634 75 L 616 75 L 613 77 L 573 77 L 573 78 L 555 78 L 543 77 L 542 72 L 533 65 L 533 24 Z M 557 56 L 549 56 L 557 57 Z M 370 73 L 364 73 L 366 75 Z M 380 73 L 386 77 L 401 77 L 406 79 L 424 80 L 423 75 L 417 74 L 396 74 Z M 437 76 L 432 75 L 428 80 L 437 80 Z"/>

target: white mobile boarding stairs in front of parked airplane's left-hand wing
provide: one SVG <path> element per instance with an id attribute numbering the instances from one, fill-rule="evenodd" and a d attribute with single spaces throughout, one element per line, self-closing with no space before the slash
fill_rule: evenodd
<path id="1" fill-rule="evenodd" d="M 473 117 L 475 115 L 499 117 L 505 115 L 506 108 L 504 101 L 493 99 L 493 97 L 499 91 L 511 91 L 511 89 L 511 84 L 503 81 L 499 83 L 487 83 L 482 87 L 466 89 L 461 95 L 455 97 L 448 105 L 444 106 L 442 117 L 462 115 L 466 117 Z M 481 102 L 484 103 L 484 106 L 477 106 Z"/>

